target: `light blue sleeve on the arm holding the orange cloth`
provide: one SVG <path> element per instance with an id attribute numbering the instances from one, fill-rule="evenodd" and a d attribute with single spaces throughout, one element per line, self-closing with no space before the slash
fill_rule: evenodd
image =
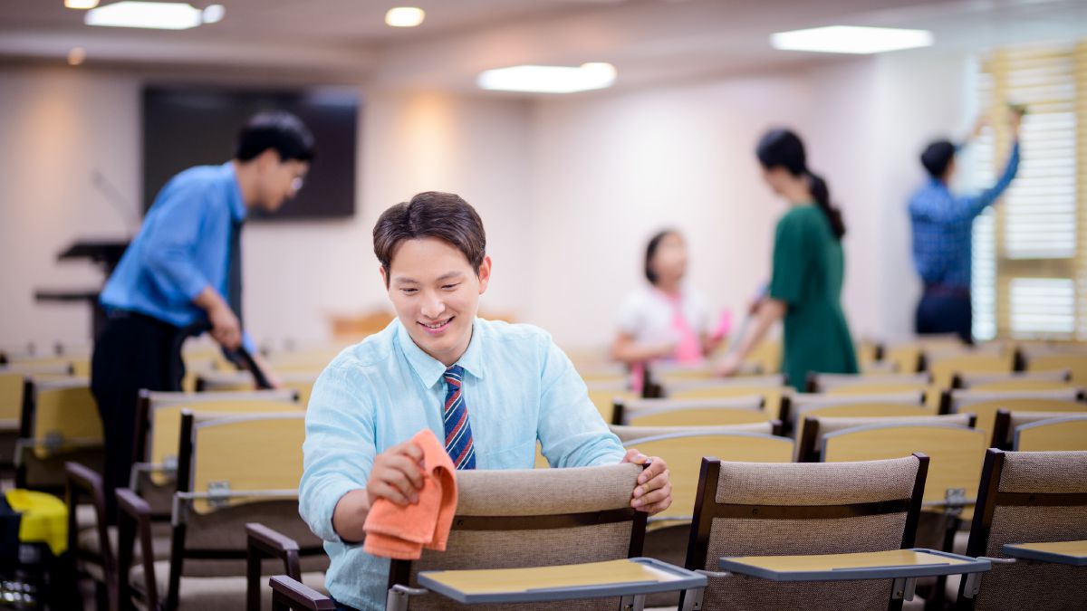
<path id="1" fill-rule="evenodd" d="M 299 513 L 315 535 L 340 541 L 333 511 L 340 498 L 366 487 L 374 465 L 374 402 L 365 375 L 337 358 L 313 386 L 305 412 Z"/>

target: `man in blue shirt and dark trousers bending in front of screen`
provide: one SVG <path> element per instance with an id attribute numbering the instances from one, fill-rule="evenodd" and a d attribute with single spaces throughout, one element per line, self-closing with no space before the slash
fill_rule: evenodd
<path id="1" fill-rule="evenodd" d="M 241 224 L 251 209 L 274 212 L 301 188 L 313 136 L 292 114 L 266 112 L 241 129 L 234 159 L 191 167 L 159 192 L 102 289 L 108 322 L 95 342 L 91 391 L 105 433 L 104 486 L 128 483 L 139 390 L 180 389 L 182 329 L 200 322 L 225 350 L 245 345 Z"/>

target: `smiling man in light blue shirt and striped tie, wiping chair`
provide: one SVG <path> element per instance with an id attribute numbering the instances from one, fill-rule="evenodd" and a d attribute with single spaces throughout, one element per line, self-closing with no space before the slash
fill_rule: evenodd
<path id="1" fill-rule="evenodd" d="M 340 609 L 385 607 L 389 561 L 363 551 L 363 523 L 378 498 L 417 501 L 423 428 L 458 469 L 532 469 L 537 440 L 552 466 L 650 461 L 630 504 L 667 509 L 667 465 L 624 452 L 550 336 L 476 317 L 491 262 L 471 205 L 439 192 L 395 205 L 374 252 L 397 320 L 328 365 L 305 415 L 300 513 L 326 541 Z"/>

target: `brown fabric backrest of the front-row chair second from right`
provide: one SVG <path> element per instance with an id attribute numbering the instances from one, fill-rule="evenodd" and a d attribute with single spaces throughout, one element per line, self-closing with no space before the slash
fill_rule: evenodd
<path id="1" fill-rule="evenodd" d="M 882 551 L 913 546 L 928 459 L 842 463 L 723 462 L 699 476 L 687 569 L 729 556 Z M 878 609 L 890 581 L 773 583 L 711 578 L 705 609 Z"/>

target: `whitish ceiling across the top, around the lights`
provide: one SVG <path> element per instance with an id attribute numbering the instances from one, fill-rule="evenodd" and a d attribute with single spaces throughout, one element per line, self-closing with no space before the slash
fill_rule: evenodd
<path id="1" fill-rule="evenodd" d="M 110 0 L 103 0 L 103 3 Z M 192 0 L 190 0 L 192 1 Z M 209 0 L 193 1 L 197 5 Z M 0 60 L 187 77 L 378 83 L 472 90 L 475 75 L 518 63 L 608 61 L 638 87 L 826 62 L 767 37 L 830 24 L 921 27 L 937 50 L 1087 38 L 1085 0 L 218 0 L 226 17 L 190 30 L 90 27 L 63 0 L 0 2 Z M 397 3 L 423 26 L 389 28 Z M 905 51 L 909 52 L 909 51 Z"/>

